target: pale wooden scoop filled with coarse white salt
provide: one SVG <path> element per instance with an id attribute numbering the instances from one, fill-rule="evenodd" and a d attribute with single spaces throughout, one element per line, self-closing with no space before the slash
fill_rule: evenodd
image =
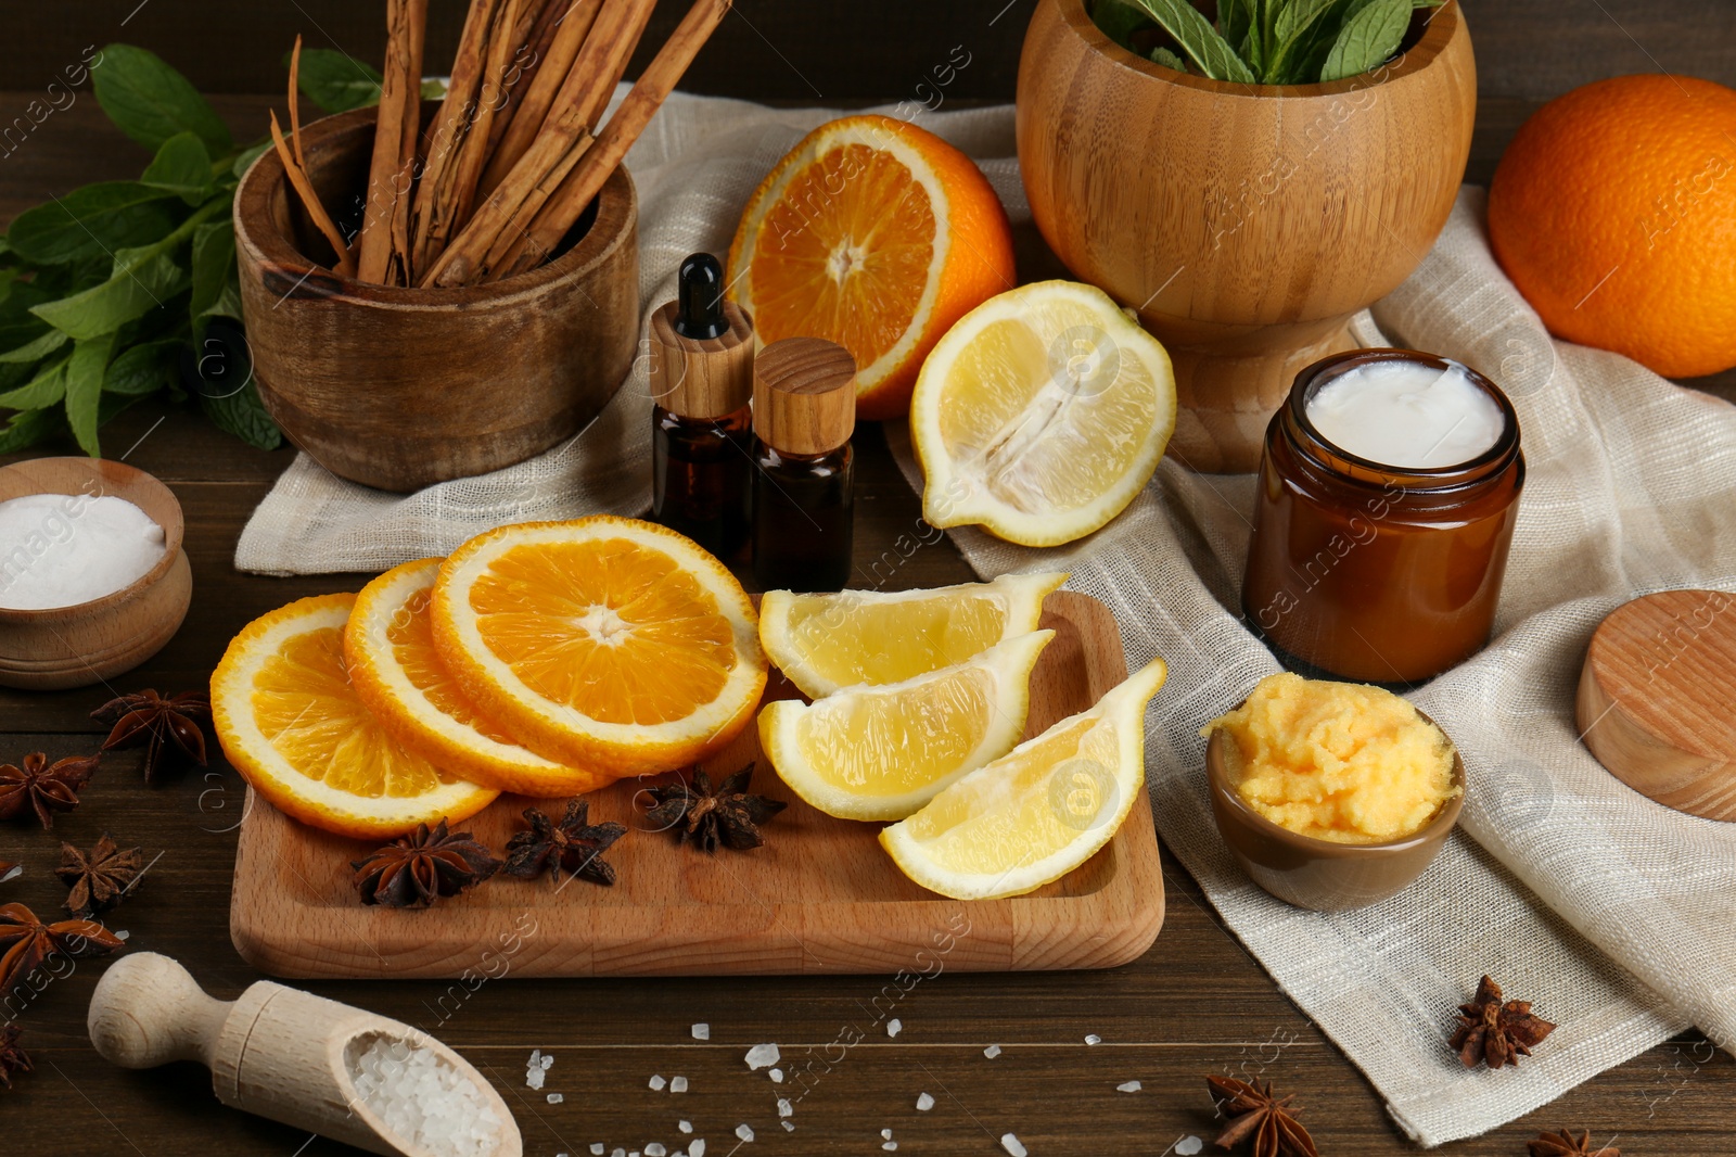
<path id="1" fill-rule="evenodd" d="M 97 982 L 87 1027 L 108 1061 L 201 1061 L 224 1105 L 370 1154 L 524 1154 L 507 1103 L 450 1048 L 403 1021 L 269 980 L 234 1002 L 215 1001 L 175 961 L 135 952 Z"/>

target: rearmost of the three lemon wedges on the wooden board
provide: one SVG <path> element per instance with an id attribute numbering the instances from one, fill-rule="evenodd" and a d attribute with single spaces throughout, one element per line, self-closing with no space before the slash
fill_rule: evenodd
<path id="1" fill-rule="evenodd" d="M 858 683 L 901 683 L 1036 631 L 1064 572 L 1002 575 L 927 591 L 840 591 L 760 599 L 760 646 L 809 698 Z"/>

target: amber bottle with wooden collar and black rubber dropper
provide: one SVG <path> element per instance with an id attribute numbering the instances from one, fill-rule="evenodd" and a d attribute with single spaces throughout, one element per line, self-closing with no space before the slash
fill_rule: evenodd
<path id="1" fill-rule="evenodd" d="M 710 254 L 681 262 L 649 353 L 651 521 L 729 558 L 748 539 L 753 328 Z"/>

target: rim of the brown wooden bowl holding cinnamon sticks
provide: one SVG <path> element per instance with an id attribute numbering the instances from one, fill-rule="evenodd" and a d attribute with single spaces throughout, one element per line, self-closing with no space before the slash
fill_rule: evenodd
<path id="1" fill-rule="evenodd" d="M 330 137 L 370 125 L 373 118 L 375 109 L 372 108 L 321 116 L 302 125 L 302 148 L 304 151 L 314 149 Z M 311 288 L 309 297 L 318 297 L 319 301 L 349 301 L 365 306 L 450 311 L 481 304 L 514 304 L 557 281 L 576 281 L 592 273 L 615 248 L 635 236 L 639 222 L 639 191 L 623 162 L 615 167 L 615 172 L 609 174 L 609 179 L 604 181 L 602 189 L 597 193 L 597 219 L 590 222 L 590 229 L 585 231 L 578 245 L 554 261 L 517 276 L 484 285 L 399 288 L 340 276 L 330 266 L 316 262 L 300 252 L 278 229 L 271 215 L 271 198 L 285 182 L 283 160 L 276 149 L 266 149 L 248 165 L 234 193 L 236 245 L 252 250 L 255 261 L 279 266 L 285 271 L 300 268 L 316 271 L 319 274 L 318 287 Z M 286 189 L 285 195 L 295 196 L 293 189 Z"/>

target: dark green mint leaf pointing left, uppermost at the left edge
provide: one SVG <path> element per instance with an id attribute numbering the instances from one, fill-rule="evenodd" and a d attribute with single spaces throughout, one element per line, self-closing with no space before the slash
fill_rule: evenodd
<path id="1" fill-rule="evenodd" d="M 26 208 L 7 229 L 7 241 L 24 261 L 54 266 L 146 245 L 174 228 L 172 191 L 102 181 Z"/>

